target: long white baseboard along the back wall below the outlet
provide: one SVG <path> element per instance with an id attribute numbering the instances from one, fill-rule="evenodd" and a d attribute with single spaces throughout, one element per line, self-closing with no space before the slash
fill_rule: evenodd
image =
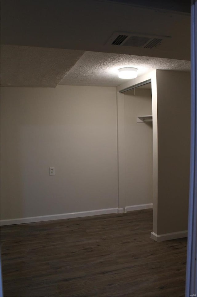
<path id="1" fill-rule="evenodd" d="M 43 222 L 43 221 L 52 221 L 52 220 L 61 220 L 61 219 L 80 218 L 80 217 L 89 217 L 92 215 L 115 214 L 115 213 L 123 213 L 123 209 L 115 207 L 115 208 L 106 208 L 106 209 L 98 209 L 98 210 L 71 212 L 71 213 L 67 213 L 67 214 L 51 214 L 51 215 L 42 215 L 42 216 L 38 216 L 38 217 L 1 220 L 1 226 Z"/>

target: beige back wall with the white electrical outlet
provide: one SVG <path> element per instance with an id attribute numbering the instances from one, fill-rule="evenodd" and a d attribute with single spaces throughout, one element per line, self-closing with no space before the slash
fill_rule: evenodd
<path id="1" fill-rule="evenodd" d="M 116 88 L 2 88 L 1 172 L 1 219 L 117 207 Z"/>

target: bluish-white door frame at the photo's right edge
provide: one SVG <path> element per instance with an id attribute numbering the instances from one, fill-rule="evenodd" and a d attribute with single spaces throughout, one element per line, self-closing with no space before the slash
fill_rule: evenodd
<path id="1" fill-rule="evenodd" d="M 191 1 L 191 155 L 186 296 L 197 296 L 197 0 Z"/>

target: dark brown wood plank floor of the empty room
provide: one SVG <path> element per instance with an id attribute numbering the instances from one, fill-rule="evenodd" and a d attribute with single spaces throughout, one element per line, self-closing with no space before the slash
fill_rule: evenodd
<path id="1" fill-rule="evenodd" d="M 184 296 L 187 239 L 152 210 L 1 227 L 4 296 Z"/>

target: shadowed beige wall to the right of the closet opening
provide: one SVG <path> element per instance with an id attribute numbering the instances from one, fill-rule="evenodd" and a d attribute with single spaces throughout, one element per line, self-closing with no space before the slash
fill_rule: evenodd
<path id="1" fill-rule="evenodd" d="M 190 73 L 157 70 L 157 234 L 187 230 Z"/>

